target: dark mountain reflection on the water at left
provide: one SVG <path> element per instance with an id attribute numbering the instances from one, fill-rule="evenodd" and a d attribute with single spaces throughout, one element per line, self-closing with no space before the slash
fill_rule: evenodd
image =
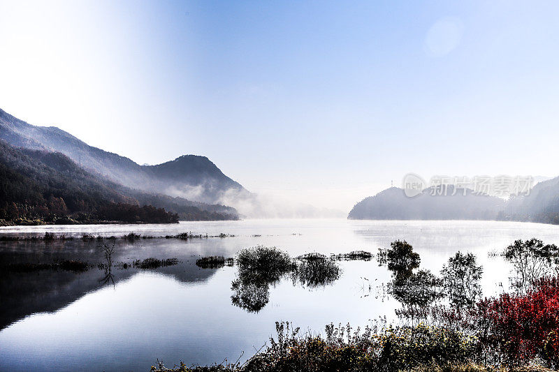
<path id="1" fill-rule="evenodd" d="M 57 311 L 88 292 L 131 278 L 142 271 L 132 265 L 133 258 L 161 254 L 152 243 L 117 242 L 108 246 L 110 253 L 99 249 L 96 241 L 10 243 L 12 248 L 0 254 L 0 329 L 33 313 Z M 181 262 L 154 271 L 186 283 L 205 281 L 215 274 L 215 270 L 196 267 L 191 255 L 183 253 Z"/>

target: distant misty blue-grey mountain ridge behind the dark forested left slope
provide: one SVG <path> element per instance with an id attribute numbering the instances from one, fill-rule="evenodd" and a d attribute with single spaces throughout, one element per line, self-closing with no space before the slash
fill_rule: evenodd
<path id="1" fill-rule="evenodd" d="M 205 156 L 187 155 L 159 165 L 139 165 L 89 146 L 55 126 L 33 126 L 1 109 L 0 139 L 15 147 L 59 152 L 89 172 L 142 191 L 209 204 L 229 199 L 231 194 L 240 198 L 250 195 Z"/>

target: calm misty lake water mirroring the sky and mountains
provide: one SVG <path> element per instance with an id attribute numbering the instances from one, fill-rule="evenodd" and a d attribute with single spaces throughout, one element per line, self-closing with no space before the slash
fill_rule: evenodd
<path id="1" fill-rule="evenodd" d="M 377 253 L 405 239 L 421 255 L 421 268 L 440 272 L 456 251 L 472 252 L 484 267 L 484 296 L 508 288 L 510 267 L 488 253 L 515 239 L 537 237 L 559 244 L 559 227 L 494 221 L 246 220 L 174 225 L 49 225 L 0 228 L 0 235 L 45 232 L 120 237 L 180 232 L 234 235 L 189 239 L 117 239 L 113 262 L 177 258 L 157 269 L 96 267 L 76 273 L 45 269 L 1 273 L 1 371 L 149 371 L 166 366 L 241 361 L 275 336 L 275 322 L 289 320 L 303 331 L 323 332 L 333 322 L 370 325 L 398 322 L 400 304 L 386 295 L 391 274 L 370 261 L 340 261 L 332 284 L 310 286 L 286 277 L 270 285 L 259 311 L 231 301 L 235 267 L 196 266 L 208 255 L 233 257 L 241 248 L 276 246 L 291 256 L 319 252 Z M 0 241 L 0 264 L 84 260 L 103 262 L 100 241 Z"/>

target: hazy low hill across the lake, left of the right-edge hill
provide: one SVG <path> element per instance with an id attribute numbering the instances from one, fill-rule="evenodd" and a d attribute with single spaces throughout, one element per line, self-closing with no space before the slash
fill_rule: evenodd
<path id="1" fill-rule="evenodd" d="M 401 188 L 388 188 L 355 204 L 347 218 L 355 220 L 492 220 L 504 209 L 504 201 L 462 190 L 456 195 L 430 195 L 430 188 L 407 198 Z"/>

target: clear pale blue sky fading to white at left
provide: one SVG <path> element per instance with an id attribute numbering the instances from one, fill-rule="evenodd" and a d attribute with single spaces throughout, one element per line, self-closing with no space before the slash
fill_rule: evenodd
<path id="1" fill-rule="evenodd" d="M 557 176 L 557 1 L 0 0 L 0 108 L 349 211 L 408 172 Z"/>

